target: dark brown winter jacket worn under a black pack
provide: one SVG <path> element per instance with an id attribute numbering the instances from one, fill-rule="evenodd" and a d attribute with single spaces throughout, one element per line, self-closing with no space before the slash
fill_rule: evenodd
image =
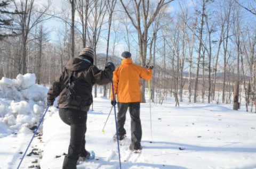
<path id="1" fill-rule="evenodd" d="M 97 83 L 98 85 L 106 85 L 111 82 L 113 78 L 113 72 L 110 69 L 99 70 L 98 67 L 92 65 L 89 62 L 82 60 L 81 58 L 71 58 L 66 69 L 60 73 L 53 81 L 49 91 L 47 100 L 54 102 L 55 98 L 59 96 L 58 106 L 59 108 L 70 108 L 77 109 L 87 112 L 90 106 L 75 107 L 68 105 L 67 99 L 65 97 L 65 92 L 67 91 L 66 83 L 68 82 L 68 70 L 74 71 L 72 75 L 72 80 L 78 79 L 88 82 L 91 87 Z"/>

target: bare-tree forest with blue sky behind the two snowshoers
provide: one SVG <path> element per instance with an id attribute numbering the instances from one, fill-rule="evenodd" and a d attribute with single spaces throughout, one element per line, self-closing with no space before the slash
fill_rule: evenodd
<path id="1" fill-rule="evenodd" d="M 0 78 L 35 73 L 50 86 L 86 46 L 94 64 L 118 66 L 123 51 L 154 66 L 141 81 L 142 102 L 167 96 L 176 104 L 244 102 L 256 97 L 255 0 L 3 0 L 0 2 Z M 110 86 L 94 87 L 109 97 Z"/>

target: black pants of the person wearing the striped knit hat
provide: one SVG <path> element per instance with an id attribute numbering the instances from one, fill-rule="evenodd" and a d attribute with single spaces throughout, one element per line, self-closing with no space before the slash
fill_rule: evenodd
<path id="1" fill-rule="evenodd" d="M 85 156 L 85 132 L 87 112 L 74 109 L 59 109 L 60 119 L 70 125 L 70 142 L 62 169 L 76 169 L 79 156 Z"/>

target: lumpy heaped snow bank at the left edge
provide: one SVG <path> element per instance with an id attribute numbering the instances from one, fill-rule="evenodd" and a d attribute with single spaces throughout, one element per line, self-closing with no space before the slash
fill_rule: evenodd
<path id="1" fill-rule="evenodd" d="M 0 122 L 10 129 L 30 128 L 40 120 L 48 89 L 35 82 L 36 75 L 31 73 L 0 80 Z"/>

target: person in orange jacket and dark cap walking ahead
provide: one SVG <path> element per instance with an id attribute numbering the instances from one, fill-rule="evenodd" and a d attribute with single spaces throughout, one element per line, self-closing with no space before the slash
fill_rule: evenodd
<path id="1" fill-rule="evenodd" d="M 118 139 L 123 140 L 126 137 L 124 123 L 126 119 L 126 112 L 129 108 L 131 116 L 131 145 L 130 150 L 141 150 L 141 121 L 140 121 L 140 78 L 150 80 L 152 78 L 153 66 L 145 67 L 133 64 L 130 52 L 123 52 L 123 60 L 113 73 L 113 92 L 111 92 L 111 104 L 116 104 L 117 95 L 117 125 L 118 125 Z M 113 139 L 116 139 L 116 134 Z"/>

